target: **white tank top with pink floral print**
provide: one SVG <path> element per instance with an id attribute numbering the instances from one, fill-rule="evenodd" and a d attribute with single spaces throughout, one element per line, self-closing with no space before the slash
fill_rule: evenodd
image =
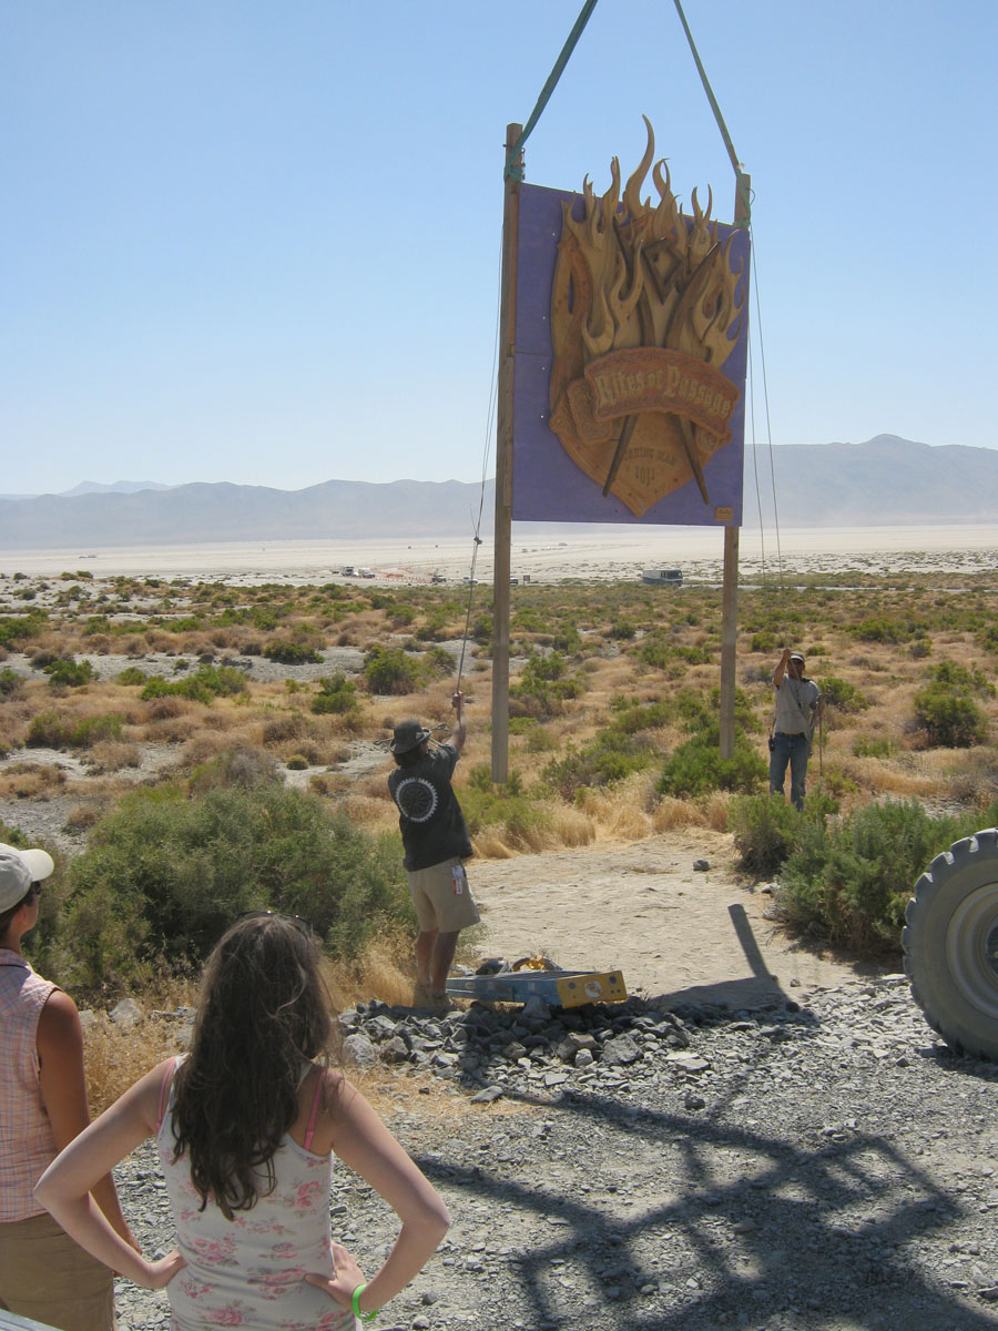
<path id="1" fill-rule="evenodd" d="M 169 1073 L 168 1078 L 172 1081 Z M 313 1123 L 317 1105 L 318 1091 Z M 286 1135 L 273 1158 L 273 1191 L 261 1193 L 255 1206 L 226 1221 L 210 1198 L 204 1211 L 198 1209 L 201 1198 L 190 1170 L 184 1157 L 173 1154 L 172 1085 L 169 1102 L 161 1105 L 156 1145 L 177 1247 L 188 1263 L 166 1286 L 173 1331 L 353 1331 L 353 1312 L 305 1280 L 309 1271 L 333 1274 L 331 1155 L 314 1155 Z"/>

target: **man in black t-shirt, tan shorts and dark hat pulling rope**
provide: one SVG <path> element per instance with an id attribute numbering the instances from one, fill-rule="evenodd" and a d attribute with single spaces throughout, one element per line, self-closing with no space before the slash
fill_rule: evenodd
<path id="1" fill-rule="evenodd" d="M 447 744 L 431 749 L 430 731 L 419 721 L 402 721 L 390 745 L 397 767 L 389 776 L 389 791 L 399 811 L 403 864 L 419 922 L 415 948 L 418 1006 L 446 1006 L 447 974 L 458 934 L 479 921 L 462 862 L 471 855 L 471 839 L 451 788 L 451 776 L 467 739 L 460 689 L 455 691 L 451 705 L 456 719 Z"/>

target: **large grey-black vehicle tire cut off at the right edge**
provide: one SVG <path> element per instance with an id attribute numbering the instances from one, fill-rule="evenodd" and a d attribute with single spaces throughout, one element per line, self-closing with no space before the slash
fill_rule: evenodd
<path id="1" fill-rule="evenodd" d="M 901 934 L 912 994 L 947 1045 L 998 1059 L 998 829 L 937 855 Z"/>

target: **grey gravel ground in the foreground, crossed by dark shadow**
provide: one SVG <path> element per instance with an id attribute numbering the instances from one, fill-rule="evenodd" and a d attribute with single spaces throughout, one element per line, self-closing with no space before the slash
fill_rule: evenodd
<path id="1" fill-rule="evenodd" d="M 689 1046 L 645 1042 L 612 1081 L 523 1059 L 471 1105 L 452 1066 L 399 1074 L 386 1117 L 454 1223 L 381 1331 L 998 1326 L 998 1067 L 941 1045 L 902 977 L 673 1012 Z M 168 1247 L 148 1146 L 118 1182 L 146 1251 Z M 375 1268 L 389 1209 L 346 1170 L 331 1209 Z M 168 1326 L 124 1282 L 120 1312 Z"/>

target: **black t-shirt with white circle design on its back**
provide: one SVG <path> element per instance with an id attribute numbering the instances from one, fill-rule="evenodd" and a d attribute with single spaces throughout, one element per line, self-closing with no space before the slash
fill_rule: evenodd
<path id="1" fill-rule="evenodd" d="M 399 811 L 399 831 L 407 869 L 428 869 L 443 860 L 471 855 L 464 815 L 451 789 L 458 761 L 452 744 L 430 749 L 413 767 L 397 767 L 389 791 Z"/>

